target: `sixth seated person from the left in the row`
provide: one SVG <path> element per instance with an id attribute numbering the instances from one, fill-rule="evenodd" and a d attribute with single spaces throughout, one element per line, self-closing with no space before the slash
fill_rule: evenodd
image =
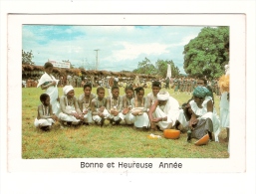
<path id="1" fill-rule="evenodd" d="M 134 115 L 131 114 L 131 100 L 133 98 L 133 88 L 131 86 L 126 87 L 125 89 L 126 95 L 123 96 L 123 111 L 122 113 L 125 116 L 126 124 L 134 123 Z"/>

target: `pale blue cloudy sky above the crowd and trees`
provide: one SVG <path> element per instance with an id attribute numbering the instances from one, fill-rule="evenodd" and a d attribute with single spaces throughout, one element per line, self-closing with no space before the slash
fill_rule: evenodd
<path id="1" fill-rule="evenodd" d="M 157 60 L 172 60 L 184 74 L 184 46 L 202 28 L 23 25 L 22 49 L 32 51 L 37 66 L 48 60 L 69 60 L 75 68 L 120 72 L 137 69 L 137 64 L 147 58 L 153 65 Z"/>

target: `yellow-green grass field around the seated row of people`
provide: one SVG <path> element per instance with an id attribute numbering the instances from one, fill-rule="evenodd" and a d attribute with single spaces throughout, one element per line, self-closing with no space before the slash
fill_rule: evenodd
<path id="1" fill-rule="evenodd" d="M 179 104 L 187 101 L 186 94 L 172 95 L 173 90 L 167 90 Z M 145 94 L 150 92 L 145 90 Z M 186 141 L 186 133 L 181 133 L 179 139 L 165 139 L 162 131 L 144 131 L 131 126 L 113 126 L 106 121 L 104 127 L 92 124 L 78 128 L 61 128 L 57 122 L 54 127 L 45 132 L 34 126 L 37 106 L 40 104 L 41 89 L 22 89 L 22 158 L 228 158 L 227 143 L 209 142 L 204 146 L 195 146 Z M 82 88 L 75 89 L 78 97 Z M 93 89 L 96 94 L 96 88 Z M 59 89 L 59 95 L 63 94 Z M 107 94 L 107 91 L 106 91 Z M 121 89 L 121 95 L 124 95 Z M 215 107 L 219 113 L 219 98 L 215 96 Z M 147 135 L 161 135 L 158 139 L 149 139 Z M 220 133 L 220 140 L 226 136 L 225 130 Z"/>

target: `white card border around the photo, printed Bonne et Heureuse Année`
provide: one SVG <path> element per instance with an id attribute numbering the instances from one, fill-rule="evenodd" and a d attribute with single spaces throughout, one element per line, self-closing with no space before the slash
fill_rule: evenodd
<path id="1" fill-rule="evenodd" d="M 67 18 L 69 20 L 67 21 Z M 76 22 L 69 22 L 76 21 Z M 21 64 L 20 51 L 21 45 L 21 30 L 22 24 L 74 24 L 74 25 L 194 25 L 194 26 L 230 26 L 230 66 L 231 66 L 231 126 L 230 128 L 240 128 L 240 132 L 231 132 L 230 140 L 230 158 L 228 159 L 48 159 L 44 160 L 25 160 L 21 159 L 22 144 L 20 136 L 22 136 L 22 123 L 20 117 L 21 100 L 17 100 L 22 94 L 20 86 L 21 81 Z M 159 163 L 180 162 L 183 164 L 178 172 L 242 172 L 245 170 L 245 16 L 242 14 L 230 15 L 213 15 L 213 14 L 200 14 L 200 15 L 174 15 L 174 14 L 104 14 L 104 15 L 10 15 L 8 17 L 8 116 L 9 122 L 9 138 L 8 138 L 8 170 L 10 172 L 18 171 L 100 171 L 100 172 L 123 172 L 124 169 L 108 169 L 107 162 L 115 161 L 118 165 L 119 161 L 125 162 L 152 162 L 152 169 L 142 169 L 139 172 L 171 172 L 176 169 L 159 169 Z M 239 49 L 237 49 L 239 48 Z M 16 69 L 13 73 L 11 70 Z M 15 80 L 12 78 L 16 78 Z M 239 79 L 236 79 L 238 78 Z M 232 83 L 235 83 L 232 85 Z M 240 88 L 239 92 L 234 89 Z M 15 90 L 13 90 L 15 89 Z M 22 99 L 22 97 L 20 97 Z M 233 104 L 236 104 L 234 106 Z M 218 108 L 218 107 L 216 107 Z M 239 112 L 235 111 L 239 109 Z M 236 112 L 234 114 L 234 112 Z M 12 115 L 12 116 L 11 116 Z M 235 123 L 234 120 L 241 119 L 240 122 Z M 235 143 L 234 143 L 235 142 Z M 236 150 L 236 151 L 234 151 Z M 171 148 L 170 148 L 171 151 Z M 107 160 L 104 169 L 80 169 L 80 162 L 100 162 Z M 59 163 L 59 164 L 58 164 Z M 17 165 L 18 164 L 18 165 Z M 38 166 L 41 166 L 38 168 Z M 196 168 L 195 168 L 196 166 Z M 200 166 L 200 168 L 199 168 Z M 128 172 L 135 172 L 136 169 L 125 169 Z"/>

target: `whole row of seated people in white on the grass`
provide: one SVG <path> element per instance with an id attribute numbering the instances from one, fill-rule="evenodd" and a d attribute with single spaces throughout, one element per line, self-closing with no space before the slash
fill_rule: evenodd
<path id="1" fill-rule="evenodd" d="M 103 126 L 105 120 L 109 120 L 113 125 L 124 123 L 135 128 L 191 130 L 189 138 L 199 139 L 209 133 L 212 140 L 218 141 L 219 118 L 212 97 L 205 87 L 196 87 L 193 97 L 183 108 L 179 107 L 178 101 L 170 97 L 168 92 L 161 91 L 159 82 L 153 82 L 151 90 L 145 96 L 143 88 L 133 90 L 132 87 L 127 87 L 125 95 L 120 96 L 120 88 L 114 86 L 111 95 L 105 97 L 105 88 L 99 87 L 95 95 L 92 94 L 92 86 L 85 85 L 84 94 L 76 97 L 74 88 L 65 86 L 64 95 L 60 97 L 59 111 L 56 113 L 53 113 L 50 96 L 40 96 L 42 103 L 38 106 L 35 126 L 49 130 L 56 120 L 67 126 L 89 125 L 94 122 Z"/>

